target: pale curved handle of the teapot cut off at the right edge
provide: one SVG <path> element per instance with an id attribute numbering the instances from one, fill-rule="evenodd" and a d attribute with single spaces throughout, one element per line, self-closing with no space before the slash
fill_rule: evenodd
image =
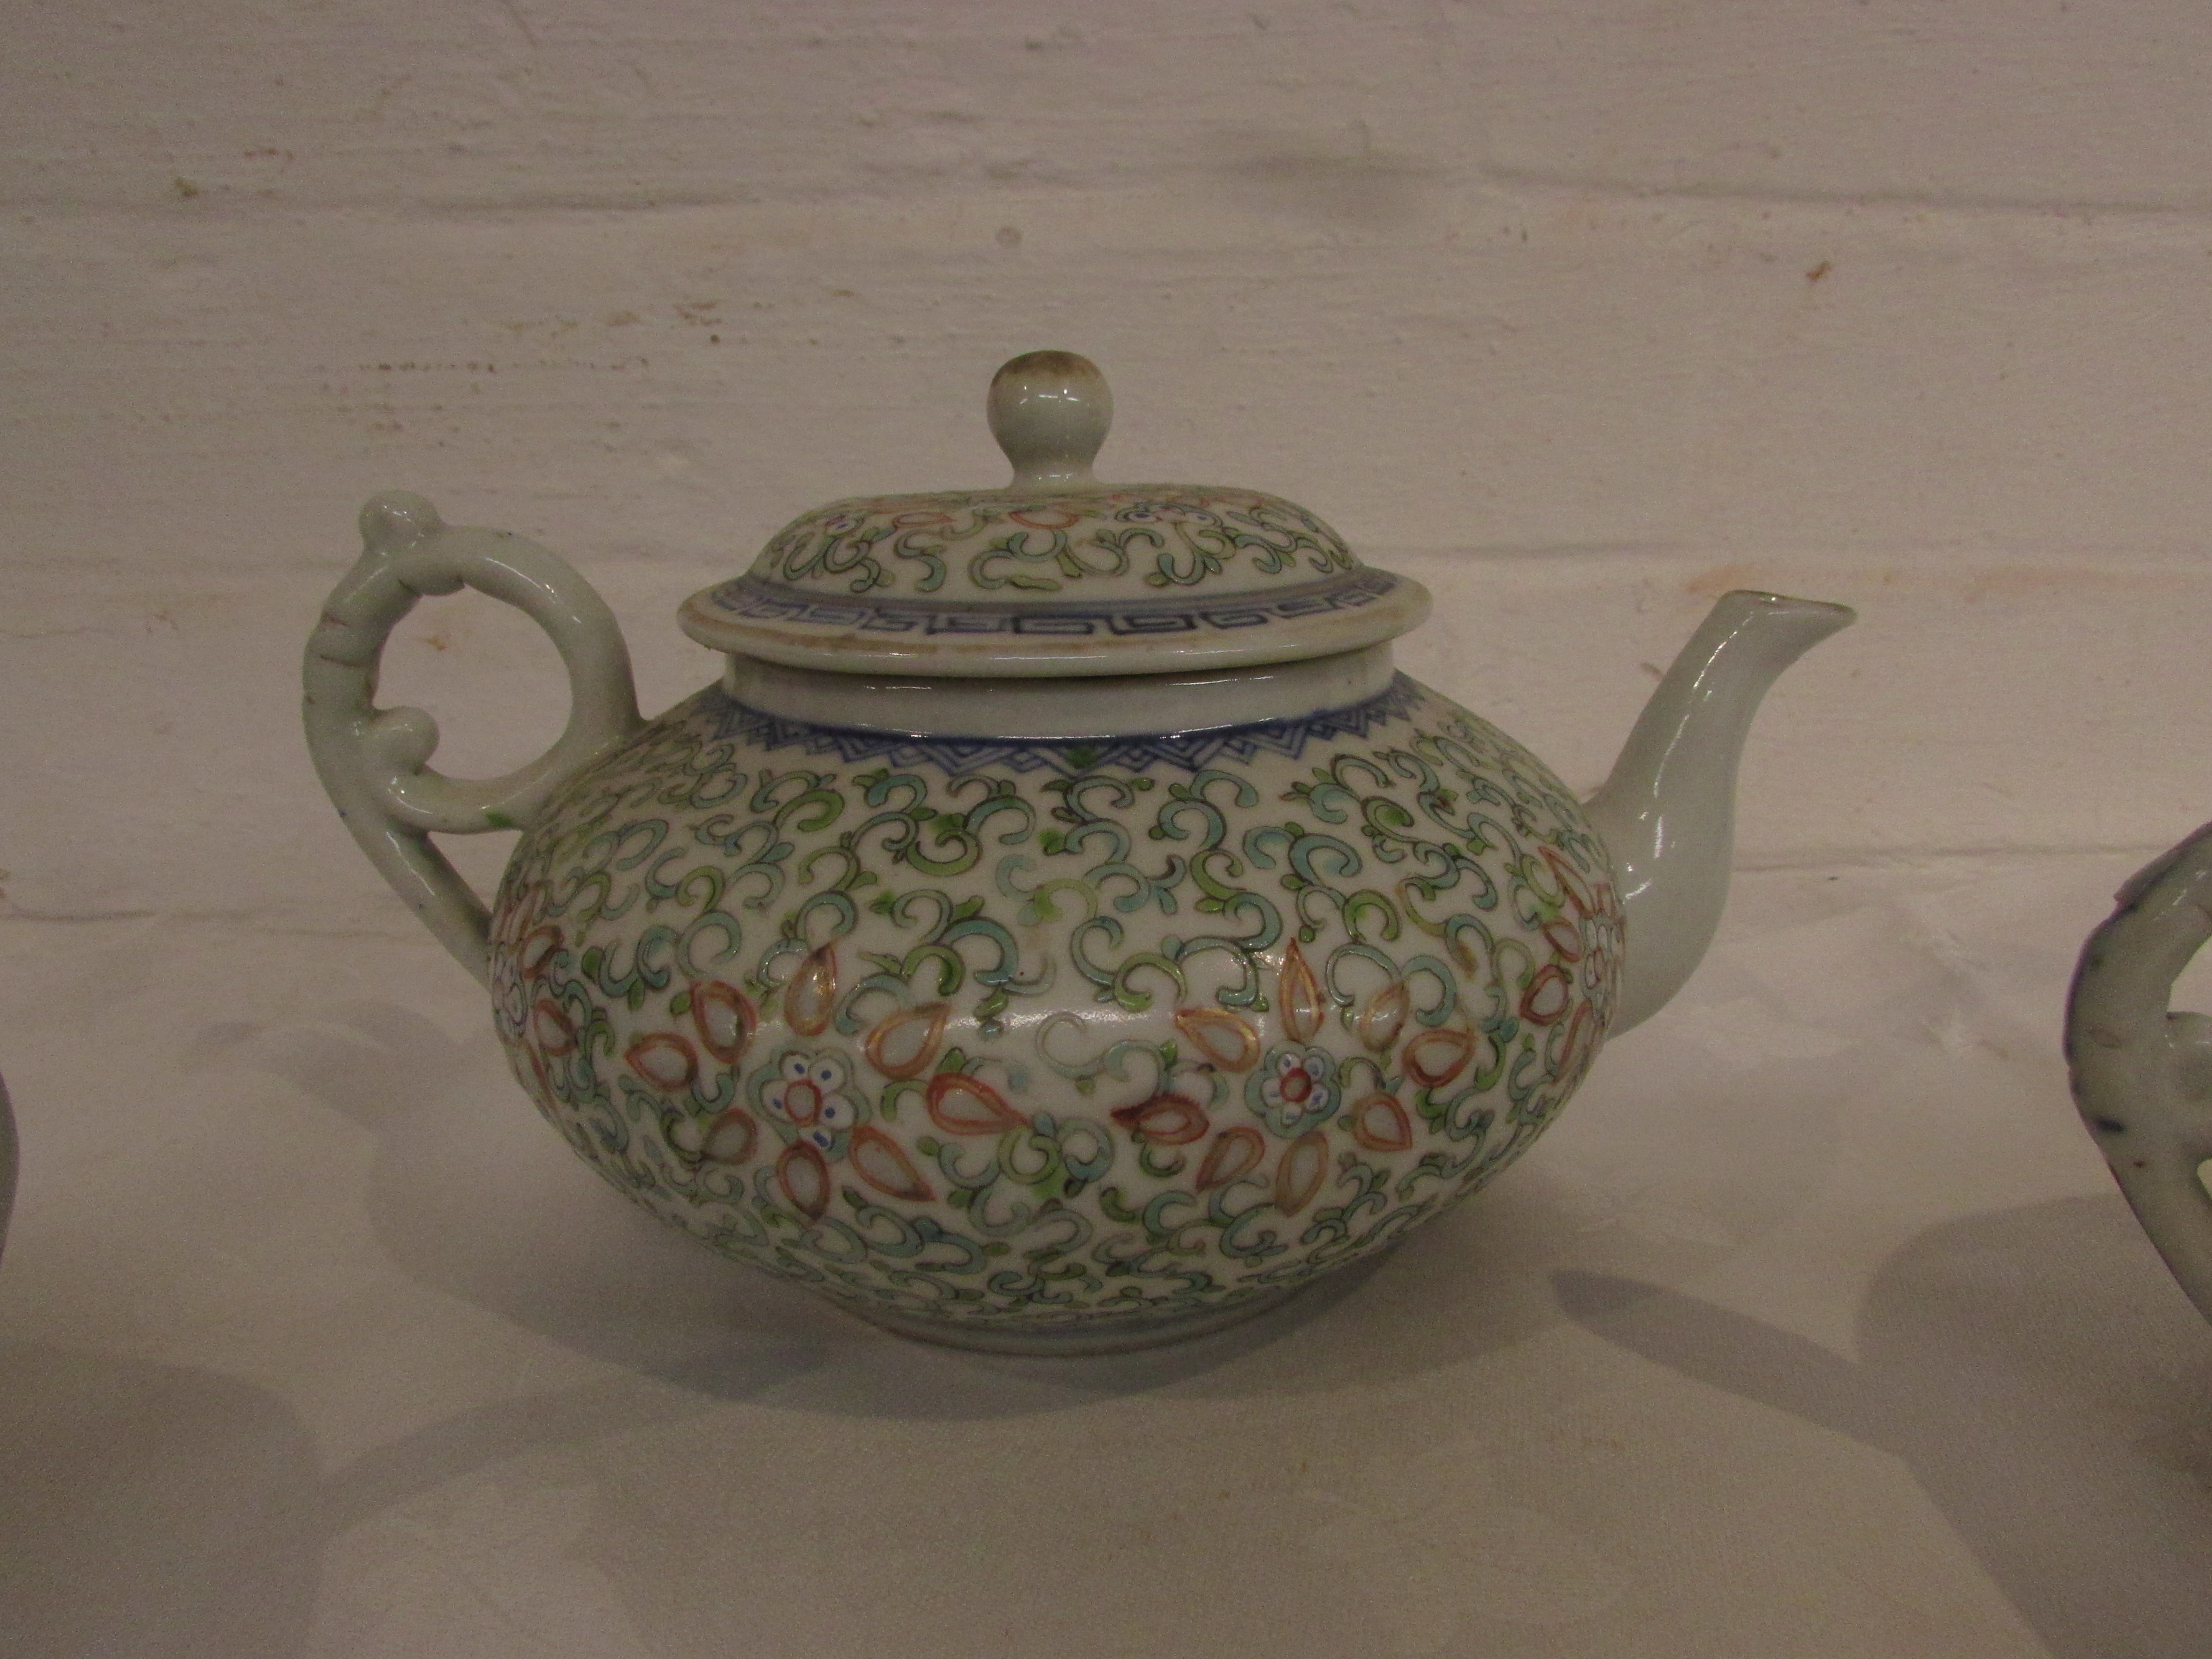
<path id="1" fill-rule="evenodd" d="M 2212 1318 L 2212 1020 L 2170 1013 L 2174 980 L 2212 938 L 2212 823 L 2119 889 L 2066 1000 L 2081 1121 L 2143 1232 Z"/>

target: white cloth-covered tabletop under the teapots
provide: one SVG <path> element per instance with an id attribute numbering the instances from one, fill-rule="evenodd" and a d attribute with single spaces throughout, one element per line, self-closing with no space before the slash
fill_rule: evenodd
<path id="1" fill-rule="evenodd" d="M 1055 1363 L 630 1210 L 427 936 L 9 922 L 7 1652 L 2197 1652 L 2212 1329 L 2057 1057 L 2128 863 L 1754 872 L 1478 1199 Z"/>

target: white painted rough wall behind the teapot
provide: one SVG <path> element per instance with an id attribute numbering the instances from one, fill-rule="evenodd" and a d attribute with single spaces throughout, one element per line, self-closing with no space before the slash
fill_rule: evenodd
<path id="1" fill-rule="evenodd" d="M 785 518 L 993 482 L 1035 345 L 1113 376 L 1108 476 L 1276 489 L 1431 582 L 1405 661 L 1575 783 L 1712 593 L 1858 604 L 1754 737 L 1752 863 L 2212 814 L 2192 0 L 7 22 L 15 914 L 407 927 L 294 717 L 363 495 L 566 551 L 659 706 L 710 672 L 675 602 Z M 560 719 L 484 602 L 389 686 L 453 770 Z"/>

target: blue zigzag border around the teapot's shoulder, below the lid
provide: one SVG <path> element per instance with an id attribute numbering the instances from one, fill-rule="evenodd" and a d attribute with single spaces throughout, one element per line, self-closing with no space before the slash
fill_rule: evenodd
<path id="1" fill-rule="evenodd" d="M 1296 761 L 1307 743 L 1332 737 L 1367 737 L 1378 726 L 1407 719 L 1427 701 L 1405 675 L 1349 708 L 1323 708 L 1294 721 L 1254 721 L 1252 726 L 1217 726 L 1206 732 L 1159 732 L 1150 737 L 1075 737 L 1075 739 L 1002 739 L 1002 737 L 902 737 L 896 732 L 860 732 L 849 726 L 810 726 L 783 719 L 737 701 L 723 690 L 719 741 L 741 739 L 763 750 L 796 748 L 805 754 L 887 765 L 936 765 L 947 774 L 1004 768 L 1009 772 L 1060 772 L 1082 776 L 1102 768 L 1146 772 L 1155 765 L 1177 772 L 1199 772 L 1223 761 L 1241 765 L 1259 754 L 1281 754 Z"/>

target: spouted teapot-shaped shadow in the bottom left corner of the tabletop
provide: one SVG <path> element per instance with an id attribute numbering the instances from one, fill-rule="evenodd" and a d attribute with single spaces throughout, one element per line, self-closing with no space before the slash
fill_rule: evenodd
<path id="1" fill-rule="evenodd" d="M 0 1628 L 22 1659 L 296 1659 L 325 1548 L 533 1451 L 699 1411 L 617 1378 L 460 1411 L 325 1473 L 268 1389 L 181 1365 L 0 1347 Z"/>

